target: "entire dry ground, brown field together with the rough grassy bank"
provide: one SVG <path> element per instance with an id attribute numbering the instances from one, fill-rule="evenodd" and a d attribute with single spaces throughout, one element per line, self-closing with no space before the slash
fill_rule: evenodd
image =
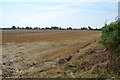
<path id="1" fill-rule="evenodd" d="M 3 77 L 97 77 L 94 69 L 109 63 L 97 43 L 100 36 L 100 31 L 3 30 Z"/>

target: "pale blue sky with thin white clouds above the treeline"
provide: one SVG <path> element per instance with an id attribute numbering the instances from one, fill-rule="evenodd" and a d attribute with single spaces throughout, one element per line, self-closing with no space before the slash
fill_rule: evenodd
<path id="1" fill-rule="evenodd" d="M 1 0 L 0 27 L 101 28 L 118 16 L 119 0 Z"/>

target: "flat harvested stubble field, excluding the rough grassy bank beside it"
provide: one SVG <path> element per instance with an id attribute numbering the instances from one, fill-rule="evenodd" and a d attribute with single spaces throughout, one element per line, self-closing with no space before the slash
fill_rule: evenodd
<path id="1" fill-rule="evenodd" d="M 45 74 L 84 54 L 100 36 L 100 31 L 3 30 L 3 77 L 51 77 Z"/>

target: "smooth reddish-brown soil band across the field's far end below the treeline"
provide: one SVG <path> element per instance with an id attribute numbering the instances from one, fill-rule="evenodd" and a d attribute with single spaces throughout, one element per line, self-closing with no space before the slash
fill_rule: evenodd
<path id="1" fill-rule="evenodd" d="M 66 31 L 66 30 L 3 30 L 3 43 L 35 42 L 35 41 L 64 41 L 89 38 L 99 34 L 99 31 Z"/>

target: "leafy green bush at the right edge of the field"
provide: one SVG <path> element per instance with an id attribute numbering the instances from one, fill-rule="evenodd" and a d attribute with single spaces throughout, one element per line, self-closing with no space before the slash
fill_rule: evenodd
<path id="1" fill-rule="evenodd" d="M 107 49 L 120 50 L 120 23 L 118 21 L 105 25 L 102 29 L 100 43 Z"/>

